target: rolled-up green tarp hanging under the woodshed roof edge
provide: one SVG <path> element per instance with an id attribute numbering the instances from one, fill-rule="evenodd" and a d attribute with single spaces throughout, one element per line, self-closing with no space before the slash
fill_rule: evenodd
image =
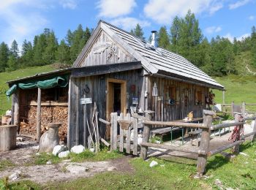
<path id="1" fill-rule="evenodd" d="M 32 89 L 32 88 L 54 88 L 54 87 L 66 87 L 69 83 L 69 75 L 56 76 L 52 78 L 48 78 L 45 80 L 28 80 L 25 83 L 18 83 L 12 85 L 11 88 L 6 92 L 7 96 L 11 96 L 17 88 L 21 88 L 23 90 Z"/>

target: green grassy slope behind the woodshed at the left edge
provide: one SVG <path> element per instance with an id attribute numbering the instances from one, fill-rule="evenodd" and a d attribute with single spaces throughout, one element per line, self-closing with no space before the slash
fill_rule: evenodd
<path id="1" fill-rule="evenodd" d="M 54 70 L 53 65 L 45 65 L 18 69 L 13 72 L 0 72 L 0 115 L 11 109 L 12 104 L 12 99 L 7 99 L 7 96 L 5 95 L 5 92 L 9 88 L 5 82 L 36 75 L 37 73 L 50 72 L 52 70 Z"/>

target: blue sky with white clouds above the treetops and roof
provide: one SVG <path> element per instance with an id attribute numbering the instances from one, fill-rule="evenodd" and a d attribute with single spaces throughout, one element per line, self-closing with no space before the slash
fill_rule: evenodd
<path id="1" fill-rule="evenodd" d="M 20 47 L 43 28 L 53 29 L 60 40 L 80 23 L 95 28 L 99 19 L 127 31 L 140 23 L 148 39 L 161 26 L 169 31 L 173 18 L 184 17 L 188 9 L 208 39 L 241 39 L 256 26 L 256 0 L 0 0 L 0 42 L 10 45 L 16 39 Z"/>

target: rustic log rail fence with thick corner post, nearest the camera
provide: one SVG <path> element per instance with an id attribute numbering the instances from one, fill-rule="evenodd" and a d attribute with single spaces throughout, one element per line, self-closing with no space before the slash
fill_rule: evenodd
<path id="1" fill-rule="evenodd" d="M 140 143 L 140 157 L 142 159 L 147 158 L 148 147 L 162 148 L 170 151 L 181 151 L 186 153 L 195 153 L 198 155 L 197 157 L 197 177 L 201 178 L 203 174 L 206 172 L 206 163 L 207 158 L 209 156 L 213 156 L 216 153 L 227 150 L 228 148 L 232 148 L 235 146 L 235 150 L 238 151 L 239 145 L 244 142 L 245 137 L 249 137 L 253 135 L 252 141 L 256 139 L 256 117 L 252 118 L 244 118 L 242 121 L 234 122 L 234 123 L 223 123 L 212 126 L 212 120 L 215 113 L 209 110 L 203 110 L 203 123 L 178 123 L 178 122 L 160 122 L 160 121 L 150 121 L 150 116 L 148 116 L 148 120 L 143 121 L 144 130 L 143 130 L 143 141 Z M 222 129 L 228 126 L 237 126 L 245 123 L 246 120 L 255 120 L 255 126 L 253 132 L 250 134 L 244 135 L 242 139 L 237 139 L 235 142 L 230 143 L 229 145 L 221 146 L 213 151 L 208 151 L 210 145 L 210 135 L 212 130 Z M 182 148 L 171 145 L 159 145 L 154 143 L 149 143 L 149 135 L 152 125 L 160 125 L 160 126 L 180 126 L 180 127 L 191 127 L 191 128 L 199 128 L 202 129 L 201 141 L 199 148 Z"/>

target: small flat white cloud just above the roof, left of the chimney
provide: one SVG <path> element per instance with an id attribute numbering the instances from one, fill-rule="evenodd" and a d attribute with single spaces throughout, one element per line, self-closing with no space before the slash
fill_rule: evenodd
<path id="1" fill-rule="evenodd" d="M 149 23 L 147 20 L 139 20 L 138 18 L 130 18 L 130 17 L 116 18 L 116 19 L 110 20 L 110 23 L 112 23 L 115 26 L 119 26 L 126 31 L 129 31 L 132 28 L 135 28 L 137 24 L 140 24 L 141 27 L 146 27 L 151 25 L 151 23 Z"/>

